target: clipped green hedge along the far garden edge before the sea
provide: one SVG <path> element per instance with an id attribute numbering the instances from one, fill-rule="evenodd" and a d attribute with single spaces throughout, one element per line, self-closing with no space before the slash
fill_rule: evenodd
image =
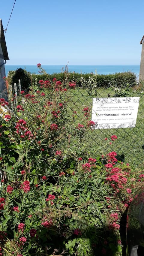
<path id="1" fill-rule="evenodd" d="M 23 72 L 22 72 L 23 71 Z M 22 76 L 21 76 L 22 74 Z M 60 72 L 60 73 L 53 73 L 53 74 L 35 74 L 27 72 L 26 70 L 22 70 L 21 68 L 17 69 L 15 72 L 10 71 L 8 74 L 9 83 L 12 85 L 14 83 L 18 83 L 18 80 L 21 80 L 22 88 L 28 89 L 30 84 L 38 84 L 39 80 L 50 80 L 55 77 L 57 80 L 61 82 L 70 82 L 75 81 L 77 87 L 81 87 L 82 84 L 80 82 L 81 77 L 84 77 L 85 80 L 88 80 L 91 77 L 91 73 L 86 74 L 79 74 L 79 73 L 72 73 L 72 72 Z M 16 82 L 17 81 L 17 82 Z M 108 74 L 108 75 L 100 75 L 97 74 L 97 86 L 98 87 L 125 87 L 129 84 L 130 87 L 136 85 L 136 74 L 131 71 L 122 72 L 122 73 L 115 73 L 115 74 Z"/>

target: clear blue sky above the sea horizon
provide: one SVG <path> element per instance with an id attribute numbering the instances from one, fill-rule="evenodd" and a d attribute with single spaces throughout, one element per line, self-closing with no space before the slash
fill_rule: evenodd
<path id="1" fill-rule="evenodd" d="M 7 26 L 14 0 L 3 0 Z M 16 0 L 5 33 L 9 65 L 140 65 L 143 0 Z"/>

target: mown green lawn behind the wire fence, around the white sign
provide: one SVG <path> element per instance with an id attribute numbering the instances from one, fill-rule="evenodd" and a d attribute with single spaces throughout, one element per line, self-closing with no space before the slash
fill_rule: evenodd
<path id="1" fill-rule="evenodd" d="M 75 118 L 72 125 L 85 122 L 83 108 L 88 106 L 92 110 L 93 98 L 107 98 L 108 94 L 113 97 L 114 92 L 110 88 L 98 88 L 97 95 L 90 96 L 88 95 L 86 89 L 77 88 L 75 90 L 68 90 L 67 96 L 69 98 L 69 112 L 71 112 L 72 114 L 73 111 L 76 111 L 76 113 L 74 114 Z M 118 155 L 122 155 L 123 161 L 129 163 L 133 167 L 142 167 L 144 159 L 144 94 L 133 90 L 131 97 L 140 97 L 136 127 L 89 130 L 89 132 L 85 134 L 85 148 L 90 143 L 91 148 L 95 146 L 95 148 L 97 149 L 97 153 L 99 154 L 103 154 L 104 152 L 110 152 L 111 146 L 109 143 L 104 146 L 104 144 L 106 144 L 106 141 L 104 139 L 105 137 L 110 138 L 111 135 L 115 134 L 117 135 L 118 139 L 113 144 L 113 150 L 116 151 Z M 91 113 L 89 119 L 91 120 Z M 95 156 L 95 153 L 96 152 L 93 152 L 93 156 Z"/>

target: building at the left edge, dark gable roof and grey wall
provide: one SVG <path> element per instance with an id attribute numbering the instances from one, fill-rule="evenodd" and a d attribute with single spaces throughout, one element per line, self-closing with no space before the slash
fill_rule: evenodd
<path id="1" fill-rule="evenodd" d="M 5 86 L 5 67 L 4 64 L 8 58 L 7 46 L 4 37 L 4 29 L 2 26 L 2 21 L 0 19 L 0 98 L 7 100 L 7 88 Z"/>

